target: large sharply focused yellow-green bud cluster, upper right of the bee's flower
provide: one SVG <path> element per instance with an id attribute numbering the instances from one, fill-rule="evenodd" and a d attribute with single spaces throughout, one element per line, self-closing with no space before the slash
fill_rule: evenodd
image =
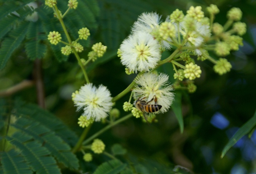
<path id="1" fill-rule="evenodd" d="M 201 73 L 202 70 L 200 69 L 200 66 L 193 63 L 186 64 L 186 69 L 184 70 L 185 78 L 194 80 L 195 78 L 199 78 Z"/>

